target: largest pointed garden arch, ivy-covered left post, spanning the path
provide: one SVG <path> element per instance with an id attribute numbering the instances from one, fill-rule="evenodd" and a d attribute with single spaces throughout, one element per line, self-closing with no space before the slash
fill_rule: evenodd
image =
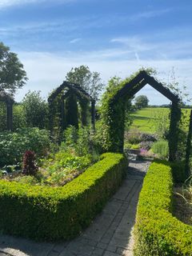
<path id="1" fill-rule="evenodd" d="M 161 82 L 147 74 L 145 70 L 140 71 L 130 82 L 124 84 L 110 99 L 108 106 L 110 109 L 108 112 L 110 121 L 107 133 L 110 146 L 108 150 L 112 152 L 123 151 L 126 100 L 138 93 L 146 84 L 158 90 L 159 93 L 172 102 L 170 110 L 169 160 L 173 162 L 176 159 L 178 150 L 178 125 L 181 118 L 180 99 L 178 95 L 172 93 Z"/>

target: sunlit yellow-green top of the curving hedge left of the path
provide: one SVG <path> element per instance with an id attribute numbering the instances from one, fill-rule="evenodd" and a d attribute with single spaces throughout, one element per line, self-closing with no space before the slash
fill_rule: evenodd
<path id="1" fill-rule="evenodd" d="M 107 160 L 109 161 L 106 161 Z M 22 197 L 42 197 L 46 200 L 62 200 L 64 198 L 73 198 L 88 190 L 90 186 L 94 185 L 95 179 L 102 177 L 102 171 L 95 170 L 109 170 L 112 166 L 118 163 L 118 160 L 123 158 L 122 154 L 106 153 L 102 154 L 102 160 L 96 162 L 94 166 L 90 166 L 83 174 L 79 175 L 73 181 L 62 187 L 49 186 L 31 186 L 30 184 L 22 184 L 18 182 L 9 182 L 5 180 L 0 181 L 1 196 L 3 194 L 11 194 Z"/>

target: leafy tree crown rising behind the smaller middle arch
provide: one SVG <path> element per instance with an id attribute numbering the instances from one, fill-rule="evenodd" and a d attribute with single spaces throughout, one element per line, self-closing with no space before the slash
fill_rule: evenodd
<path id="1" fill-rule="evenodd" d="M 90 96 L 98 100 L 104 84 L 98 72 L 90 72 L 88 66 L 78 66 L 72 68 L 66 74 L 66 81 L 80 85 Z"/>

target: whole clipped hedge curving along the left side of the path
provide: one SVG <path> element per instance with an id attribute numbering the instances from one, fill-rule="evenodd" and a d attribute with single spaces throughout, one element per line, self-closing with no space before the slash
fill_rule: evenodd
<path id="1" fill-rule="evenodd" d="M 117 190 L 126 166 L 122 154 L 107 153 L 63 187 L 0 181 L 0 231 L 37 240 L 75 237 Z"/>

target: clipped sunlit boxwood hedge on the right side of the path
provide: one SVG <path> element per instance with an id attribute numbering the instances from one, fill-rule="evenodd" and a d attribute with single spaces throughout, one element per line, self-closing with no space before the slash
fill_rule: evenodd
<path id="1" fill-rule="evenodd" d="M 171 214 L 172 188 L 169 163 L 152 163 L 139 196 L 135 255 L 192 255 L 192 226 Z"/>

